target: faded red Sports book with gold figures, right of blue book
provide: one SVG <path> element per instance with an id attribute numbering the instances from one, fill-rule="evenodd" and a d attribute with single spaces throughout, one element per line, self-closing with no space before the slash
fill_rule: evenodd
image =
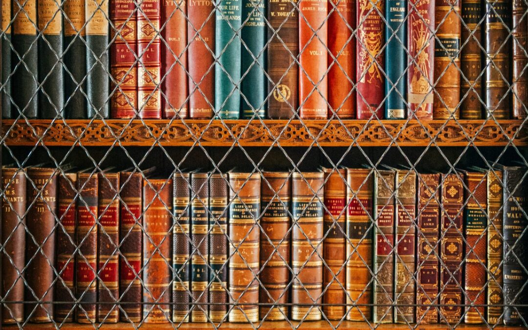
<path id="1" fill-rule="evenodd" d="M 407 117 L 432 119 L 435 39 L 435 2 L 409 0 L 407 18 Z"/>

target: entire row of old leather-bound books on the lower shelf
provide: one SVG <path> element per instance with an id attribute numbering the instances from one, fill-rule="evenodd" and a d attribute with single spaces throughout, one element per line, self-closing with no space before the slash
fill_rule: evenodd
<path id="1" fill-rule="evenodd" d="M 526 168 L 149 173 L 3 168 L 4 323 L 528 317 Z"/>

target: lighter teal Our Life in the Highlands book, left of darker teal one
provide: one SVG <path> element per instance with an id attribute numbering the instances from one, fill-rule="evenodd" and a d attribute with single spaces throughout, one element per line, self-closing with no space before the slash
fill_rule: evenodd
<path id="1" fill-rule="evenodd" d="M 216 5 L 214 109 L 222 119 L 240 118 L 240 27 L 242 0 L 219 0 Z"/>

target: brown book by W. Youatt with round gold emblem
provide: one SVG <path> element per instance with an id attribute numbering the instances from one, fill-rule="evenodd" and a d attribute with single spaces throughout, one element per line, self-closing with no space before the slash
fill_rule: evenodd
<path id="1" fill-rule="evenodd" d="M 294 3 L 268 2 L 268 23 L 268 93 L 273 91 L 268 118 L 289 119 L 299 107 L 299 18 Z"/>

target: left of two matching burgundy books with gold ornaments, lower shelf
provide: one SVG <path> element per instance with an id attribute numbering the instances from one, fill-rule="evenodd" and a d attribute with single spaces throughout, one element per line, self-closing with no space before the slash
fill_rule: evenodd
<path id="1" fill-rule="evenodd" d="M 440 174 L 420 174 L 416 233 L 416 322 L 438 323 Z"/>

